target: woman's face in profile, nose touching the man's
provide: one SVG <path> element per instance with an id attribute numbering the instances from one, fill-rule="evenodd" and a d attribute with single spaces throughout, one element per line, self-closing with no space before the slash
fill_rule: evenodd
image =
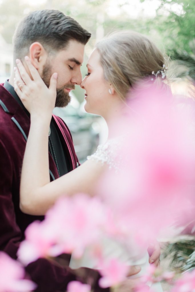
<path id="1" fill-rule="evenodd" d="M 87 63 L 87 75 L 81 82 L 81 88 L 85 90 L 86 112 L 105 116 L 112 99 L 112 95 L 108 93 L 109 85 L 104 79 L 99 52 L 95 49 Z"/>

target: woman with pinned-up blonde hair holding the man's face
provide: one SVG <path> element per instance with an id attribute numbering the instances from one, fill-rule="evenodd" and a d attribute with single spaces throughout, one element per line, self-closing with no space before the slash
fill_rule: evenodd
<path id="1" fill-rule="evenodd" d="M 34 80 L 25 74 L 19 62 L 18 68 L 25 78 L 22 80 L 16 70 L 14 87 L 31 117 L 21 175 L 20 206 L 25 213 L 44 215 L 63 194 L 72 196 L 83 192 L 94 195 L 94 185 L 102 172 L 108 167 L 115 168 L 115 157 L 110 151 L 113 137 L 109 133 L 108 147 L 100 145 L 84 164 L 50 183 L 48 130 L 55 105 L 57 74 L 52 75 L 47 88 L 30 59 L 26 57 L 25 60 Z M 121 109 L 126 107 L 127 93 L 131 93 L 141 79 L 149 77 L 153 83 L 162 83 L 164 64 L 161 52 L 141 34 L 120 32 L 103 39 L 91 54 L 87 75 L 80 85 L 85 90 L 85 110 L 101 115 L 109 130 L 112 117 L 120 115 Z M 26 86 L 20 89 L 18 84 L 22 83 Z M 33 92 L 30 93 L 27 87 L 33 88 Z M 39 147 L 36 147 L 37 143 Z M 161 291 L 161 287 L 156 291 Z"/>

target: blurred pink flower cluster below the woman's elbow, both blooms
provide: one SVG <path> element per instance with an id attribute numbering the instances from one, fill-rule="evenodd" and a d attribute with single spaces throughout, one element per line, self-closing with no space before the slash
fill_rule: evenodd
<path id="1" fill-rule="evenodd" d="M 99 240 L 105 222 L 106 207 L 99 199 L 84 194 L 61 197 L 44 221 L 27 227 L 18 258 L 27 265 L 61 253 L 80 257 L 87 246 Z"/>

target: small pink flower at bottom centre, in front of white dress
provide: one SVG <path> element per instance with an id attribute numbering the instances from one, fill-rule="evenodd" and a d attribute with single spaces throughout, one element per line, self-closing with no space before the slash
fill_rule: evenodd
<path id="1" fill-rule="evenodd" d="M 129 267 L 121 263 L 118 259 L 111 259 L 102 264 L 100 274 L 103 276 L 99 279 L 99 285 L 102 288 L 115 286 L 126 279 Z"/>

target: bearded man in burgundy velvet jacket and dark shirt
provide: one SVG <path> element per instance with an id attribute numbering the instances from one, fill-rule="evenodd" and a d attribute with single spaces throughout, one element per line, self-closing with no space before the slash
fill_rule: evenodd
<path id="1" fill-rule="evenodd" d="M 81 83 L 84 45 L 90 36 L 75 20 L 60 11 L 34 11 L 16 29 L 14 65 L 16 58 L 23 61 L 28 55 L 47 86 L 51 74 L 57 72 L 56 106 L 64 107 L 70 101 L 70 90 Z M 34 220 L 43 220 L 43 217 L 27 215 L 20 210 L 20 171 L 30 114 L 15 93 L 13 83 L 14 72 L 9 81 L 0 85 L 0 249 L 17 258 L 26 227 Z M 78 160 L 70 132 L 60 118 L 52 117 L 48 135 L 50 178 L 54 180 L 76 168 Z M 38 285 L 37 292 L 65 291 L 69 281 L 78 279 L 68 268 L 68 258 L 66 260 L 65 267 L 45 259 L 27 266 L 27 273 Z M 131 274 L 137 272 L 139 269 Z M 83 279 L 81 275 L 80 278 Z M 95 291 L 101 291 L 97 285 L 95 287 Z"/>

